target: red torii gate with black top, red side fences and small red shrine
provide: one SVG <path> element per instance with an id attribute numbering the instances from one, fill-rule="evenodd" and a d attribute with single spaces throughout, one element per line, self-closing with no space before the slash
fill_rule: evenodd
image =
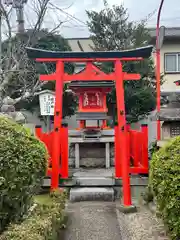
<path id="1" fill-rule="evenodd" d="M 36 128 L 36 134 L 45 143 L 49 151 L 49 168 L 47 174 L 51 176 L 51 189 L 59 187 L 59 178 L 68 178 L 68 129 L 62 126 L 62 96 L 63 84 L 66 82 L 105 81 L 115 84 L 117 101 L 118 124 L 115 127 L 115 177 L 122 178 L 123 203 L 131 206 L 130 173 L 148 173 L 148 129 L 143 125 L 141 130 L 131 130 L 126 124 L 124 104 L 124 81 L 139 80 L 140 74 L 123 72 L 124 61 L 141 61 L 151 56 L 153 46 L 127 51 L 110 52 L 53 52 L 34 48 L 27 48 L 30 58 L 38 62 L 53 62 L 56 64 L 55 73 L 40 75 L 41 81 L 56 81 L 54 130 L 43 133 L 41 127 Z M 69 75 L 64 72 L 66 62 L 86 62 L 85 69 L 77 74 Z M 95 63 L 113 62 L 114 71 L 106 74 L 96 67 Z M 102 83 L 101 82 L 101 83 Z M 75 83 L 75 82 L 74 82 Z M 73 84 L 74 84 L 73 83 Z M 77 82 L 76 82 L 77 83 Z M 78 85 L 71 87 L 79 95 L 79 116 L 85 114 L 105 114 L 107 108 L 105 97 L 112 85 L 103 87 L 90 85 L 82 90 Z M 94 88 L 94 89 L 93 89 Z M 86 91 L 85 91 L 86 89 Z M 95 91 L 92 91 L 95 90 Z M 106 123 L 101 117 L 103 126 Z M 85 127 L 85 117 L 80 118 L 80 127 Z"/>

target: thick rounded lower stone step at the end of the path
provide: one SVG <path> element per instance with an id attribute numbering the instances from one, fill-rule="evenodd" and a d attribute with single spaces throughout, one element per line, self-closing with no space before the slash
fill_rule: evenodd
<path id="1" fill-rule="evenodd" d="M 114 201 L 113 188 L 81 187 L 71 188 L 70 201 Z"/>

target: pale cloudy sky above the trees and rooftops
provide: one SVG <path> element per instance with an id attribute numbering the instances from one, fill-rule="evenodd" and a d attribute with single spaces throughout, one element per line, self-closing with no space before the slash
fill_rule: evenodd
<path id="1" fill-rule="evenodd" d="M 32 12 L 32 2 L 37 0 L 28 0 L 25 6 L 26 28 L 33 26 L 35 19 Z M 109 5 L 124 4 L 128 9 L 130 20 L 139 21 L 146 18 L 149 14 L 152 16 L 148 20 L 149 27 L 155 27 L 157 10 L 161 0 L 107 0 Z M 45 17 L 44 27 L 52 29 L 57 22 L 63 21 L 59 33 L 66 38 L 89 37 L 87 28 L 86 10 L 100 11 L 103 8 L 103 0 L 51 0 L 53 6 L 59 9 L 49 10 Z M 15 15 L 12 15 L 14 20 Z M 13 29 L 17 30 L 16 21 L 13 21 Z M 165 27 L 180 27 L 180 0 L 164 0 L 161 13 L 161 25 Z"/>

